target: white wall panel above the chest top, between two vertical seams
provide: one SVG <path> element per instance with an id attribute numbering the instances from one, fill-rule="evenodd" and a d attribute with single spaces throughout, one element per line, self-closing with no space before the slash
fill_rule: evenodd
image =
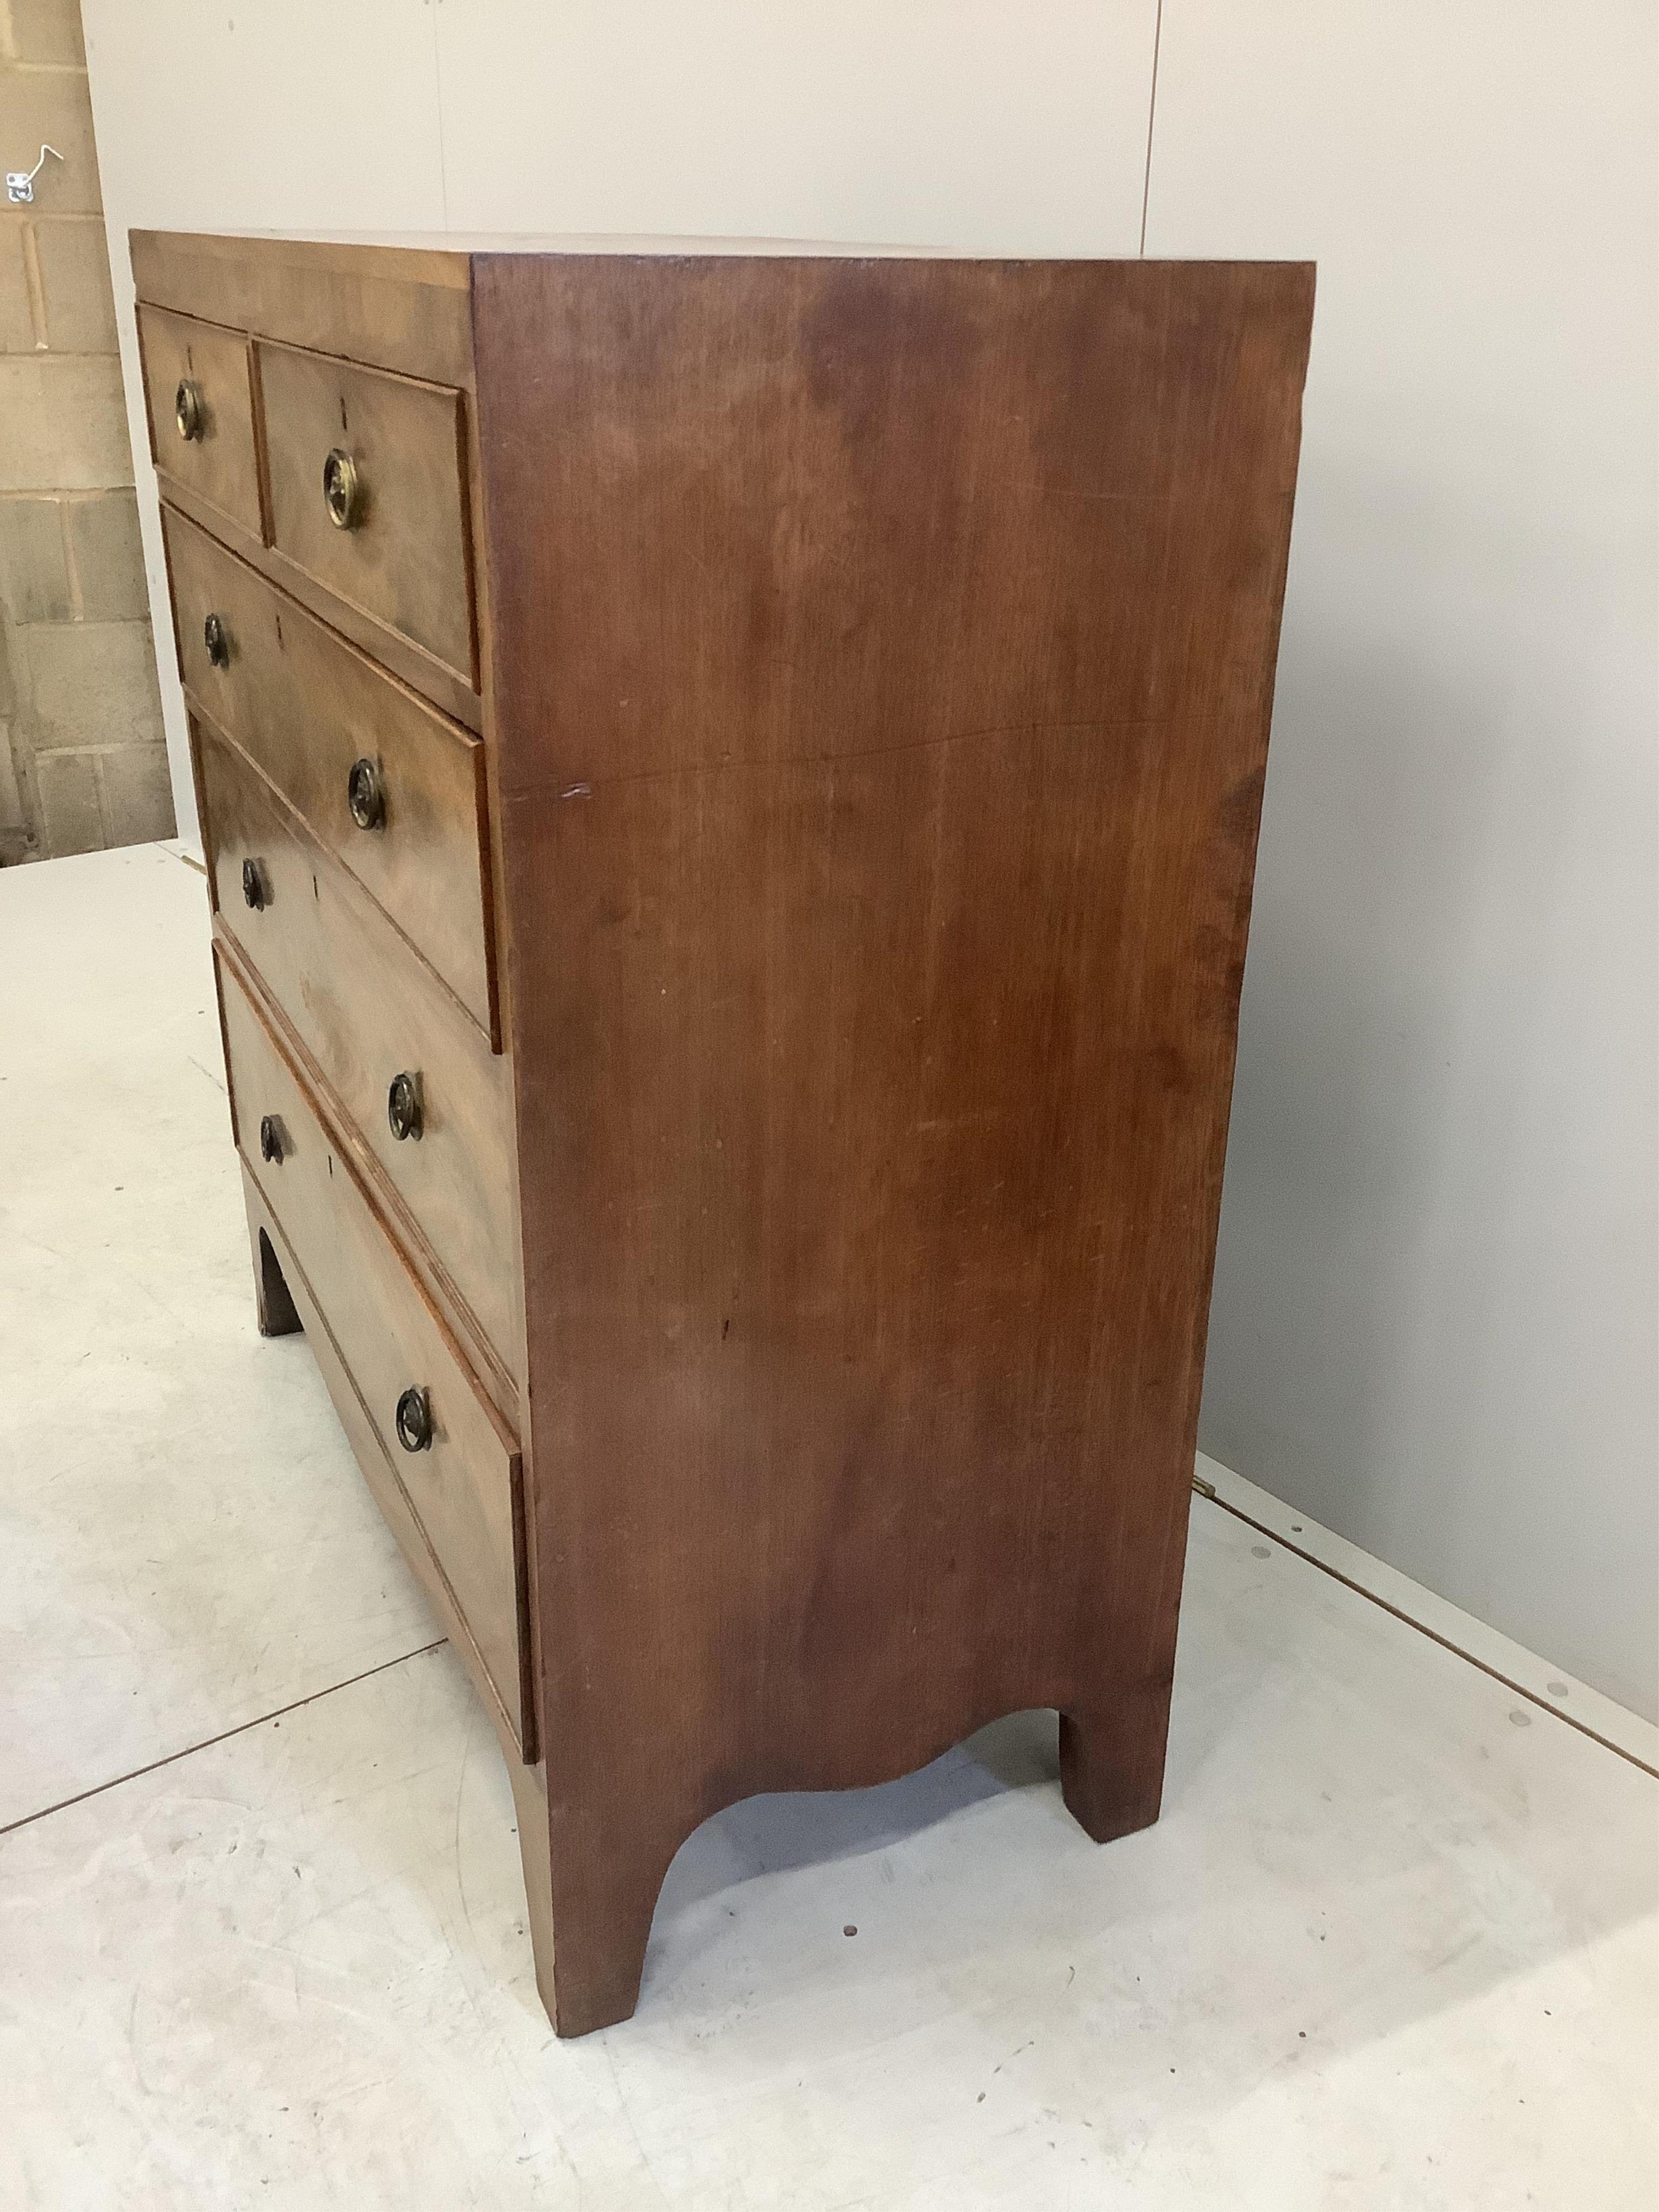
<path id="1" fill-rule="evenodd" d="M 1155 0 L 442 0 L 449 223 L 1133 254 Z"/>

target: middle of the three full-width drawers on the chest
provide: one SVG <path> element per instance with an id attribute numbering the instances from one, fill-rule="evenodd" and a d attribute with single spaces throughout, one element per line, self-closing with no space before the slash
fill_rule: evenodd
<path id="1" fill-rule="evenodd" d="M 221 922 L 511 1374 L 520 1274 L 507 1062 L 257 770 L 199 721 L 195 741 Z"/>

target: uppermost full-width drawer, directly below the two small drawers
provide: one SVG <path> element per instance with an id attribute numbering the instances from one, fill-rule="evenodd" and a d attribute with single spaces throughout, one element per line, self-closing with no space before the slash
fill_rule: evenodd
<path id="1" fill-rule="evenodd" d="M 175 509 L 161 526 L 186 690 L 493 1033 L 480 741 Z M 356 761 L 380 787 L 369 830 L 352 818 Z"/>

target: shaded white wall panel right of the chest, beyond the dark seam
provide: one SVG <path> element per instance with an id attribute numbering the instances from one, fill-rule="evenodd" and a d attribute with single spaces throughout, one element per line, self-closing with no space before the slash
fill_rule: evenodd
<path id="1" fill-rule="evenodd" d="M 1659 1712 L 1655 13 L 1164 0 L 1146 248 L 1318 261 L 1203 1440 Z"/>

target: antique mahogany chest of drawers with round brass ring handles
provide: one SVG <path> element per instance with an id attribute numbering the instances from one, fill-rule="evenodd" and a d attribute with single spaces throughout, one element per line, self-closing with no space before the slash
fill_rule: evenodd
<path id="1" fill-rule="evenodd" d="M 560 2033 L 759 1790 L 1157 1816 L 1305 265 L 135 232 L 261 1327 Z"/>

